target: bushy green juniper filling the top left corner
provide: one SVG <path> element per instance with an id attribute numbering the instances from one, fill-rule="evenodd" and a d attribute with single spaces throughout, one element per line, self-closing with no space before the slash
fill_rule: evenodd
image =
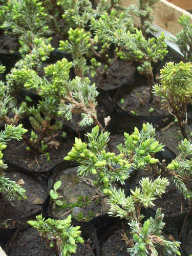
<path id="1" fill-rule="evenodd" d="M 1 28 L 18 36 L 19 52 L 24 57 L 33 46 L 32 41 L 50 34 L 47 26 L 47 13 L 38 0 L 10 0 L 0 11 Z M 33 15 L 31 15 L 33 14 Z"/>

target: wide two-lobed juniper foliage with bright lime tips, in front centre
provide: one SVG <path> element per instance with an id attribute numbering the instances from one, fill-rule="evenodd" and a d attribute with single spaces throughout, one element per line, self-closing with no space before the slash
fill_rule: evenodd
<path id="1" fill-rule="evenodd" d="M 119 155 L 105 151 L 109 135 L 107 132 L 99 134 L 99 126 L 95 126 L 92 132 L 87 134 L 88 143 L 76 138 L 72 150 L 64 158 L 68 161 L 76 160 L 80 164 L 78 174 L 96 174 L 95 184 L 104 194 L 111 194 L 110 189 L 114 182 L 124 184 L 131 169 L 144 168 L 147 164 L 156 163 L 158 160 L 151 154 L 162 150 L 162 145 L 155 139 L 155 129 L 148 123 L 143 124 L 140 133 L 135 128 L 131 136 L 124 134 L 124 147 L 122 144 L 117 146 Z"/>

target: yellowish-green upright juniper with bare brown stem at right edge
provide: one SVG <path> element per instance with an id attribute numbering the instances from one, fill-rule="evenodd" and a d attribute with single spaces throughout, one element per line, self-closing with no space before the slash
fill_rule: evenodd
<path id="1" fill-rule="evenodd" d="M 160 83 L 153 87 L 153 93 L 163 98 L 163 108 L 174 112 L 182 135 L 187 123 L 187 104 L 192 102 L 192 64 L 190 62 L 167 62 L 160 71 Z M 172 113 L 171 113 L 172 114 Z"/>

